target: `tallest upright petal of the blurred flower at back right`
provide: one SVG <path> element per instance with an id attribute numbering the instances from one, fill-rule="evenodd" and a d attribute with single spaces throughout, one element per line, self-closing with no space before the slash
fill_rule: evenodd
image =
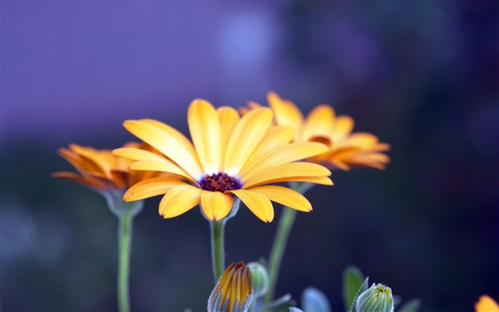
<path id="1" fill-rule="evenodd" d="M 290 101 L 282 100 L 274 92 L 269 92 L 267 94 L 267 101 L 269 101 L 269 106 L 272 107 L 272 111 L 275 114 L 275 120 L 277 124 L 282 126 L 292 126 L 295 131 L 299 131 L 303 124 L 303 114 Z M 297 137 L 297 133 L 295 134 Z"/>

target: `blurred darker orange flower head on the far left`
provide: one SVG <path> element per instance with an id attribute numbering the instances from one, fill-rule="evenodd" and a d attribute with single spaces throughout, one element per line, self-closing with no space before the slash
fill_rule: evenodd
<path id="1" fill-rule="evenodd" d="M 153 151 L 146 144 L 130 142 L 123 146 L 125 148 L 141 148 Z M 91 147 L 70 144 L 69 149 L 59 149 L 58 154 L 76 168 L 78 173 L 56 172 L 52 173 L 56 178 L 68 178 L 82 183 L 96 191 L 125 191 L 138 181 L 145 178 L 158 176 L 153 171 L 129 171 L 128 166 L 133 161 L 118 157 L 108 149 L 93 149 Z"/>

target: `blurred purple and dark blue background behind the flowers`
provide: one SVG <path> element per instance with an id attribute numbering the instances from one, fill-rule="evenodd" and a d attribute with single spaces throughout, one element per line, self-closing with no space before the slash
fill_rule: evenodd
<path id="1" fill-rule="evenodd" d="M 1 1 L 0 309 L 115 310 L 117 221 L 50 178 L 71 170 L 58 147 L 118 147 L 125 119 L 187 134 L 192 99 L 265 104 L 270 90 L 392 145 L 386 171 L 309 191 L 278 295 L 315 286 L 341 311 L 354 264 L 422 311 L 499 300 L 498 1 Z M 132 308 L 202 311 L 208 224 L 197 209 L 163 220 L 158 201 L 135 218 Z M 276 221 L 241 209 L 227 263 L 266 257 Z"/>

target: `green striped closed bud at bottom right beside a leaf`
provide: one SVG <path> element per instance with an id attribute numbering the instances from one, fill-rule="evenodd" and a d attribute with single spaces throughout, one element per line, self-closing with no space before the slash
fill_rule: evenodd
<path id="1" fill-rule="evenodd" d="M 391 289 L 382 284 L 373 285 L 357 297 L 356 312 L 392 312 L 393 296 Z"/>

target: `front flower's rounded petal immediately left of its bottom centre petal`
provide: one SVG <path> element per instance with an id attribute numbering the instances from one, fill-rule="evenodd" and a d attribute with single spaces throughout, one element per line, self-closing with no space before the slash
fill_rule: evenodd
<path id="1" fill-rule="evenodd" d="M 200 188 L 182 184 L 170 189 L 160 201 L 160 215 L 163 218 L 173 218 L 192 209 L 201 202 Z"/>

